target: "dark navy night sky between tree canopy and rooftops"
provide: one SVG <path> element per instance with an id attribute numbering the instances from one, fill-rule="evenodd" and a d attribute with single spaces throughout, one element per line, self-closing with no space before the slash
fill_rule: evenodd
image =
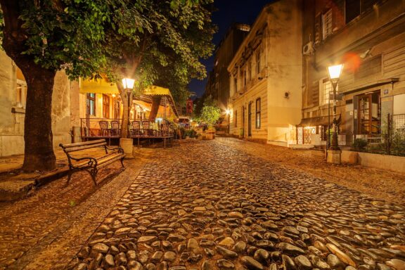
<path id="1" fill-rule="evenodd" d="M 252 25 L 257 15 L 265 4 L 271 3 L 271 0 L 214 0 L 214 6 L 217 11 L 212 13 L 212 22 L 218 26 L 218 32 L 214 34 L 213 42 L 219 44 L 228 30 L 231 23 L 247 23 Z M 207 73 L 214 67 L 214 56 L 207 60 L 202 60 L 207 69 Z M 190 91 L 197 96 L 202 96 L 207 79 L 200 81 L 193 79 L 189 84 Z"/>

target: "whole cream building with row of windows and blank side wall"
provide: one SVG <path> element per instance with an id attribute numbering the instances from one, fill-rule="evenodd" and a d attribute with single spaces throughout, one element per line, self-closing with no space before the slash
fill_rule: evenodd
<path id="1" fill-rule="evenodd" d="M 264 6 L 228 66 L 230 133 L 294 143 L 302 104 L 302 1 Z"/>

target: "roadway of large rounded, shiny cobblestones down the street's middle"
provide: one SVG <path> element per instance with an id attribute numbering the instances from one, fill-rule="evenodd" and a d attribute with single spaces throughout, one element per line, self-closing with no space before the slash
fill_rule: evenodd
<path id="1" fill-rule="evenodd" d="M 405 206 L 219 141 L 162 150 L 74 269 L 405 269 Z"/>

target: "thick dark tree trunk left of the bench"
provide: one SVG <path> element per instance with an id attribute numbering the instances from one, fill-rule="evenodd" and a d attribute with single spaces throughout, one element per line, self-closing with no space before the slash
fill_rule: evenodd
<path id="1" fill-rule="evenodd" d="M 52 136 L 52 91 L 56 71 L 30 61 L 18 63 L 27 81 L 23 169 L 27 172 L 55 169 Z"/>

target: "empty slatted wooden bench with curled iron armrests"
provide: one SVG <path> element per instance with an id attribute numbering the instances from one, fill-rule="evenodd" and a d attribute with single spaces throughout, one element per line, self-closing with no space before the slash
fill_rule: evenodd
<path id="1" fill-rule="evenodd" d="M 94 181 L 94 185 L 97 186 L 96 176 L 98 169 L 110 165 L 111 163 L 120 160 L 122 167 L 124 167 L 124 160 L 125 154 L 124 150 L 120 147 L 110 148 L 107 146 L 107 142 L 105 139 L 96 140 L 96 141 L 85 141 L 82 143 L 68 143 L 63 144 L 60 143 L 59 146 L 63 149 L 65 154 L 68 156 L 69 162 L 69 172 L 68 172 L 68 182 L 69 184 L 70 178 L 72 174 L 79 171 L 86 171 L 89 172 L 91 179 Z M 73 152 L 79 152 L 86 149 L 91 148 L 98 148 L 103 147 L 105 150 L 105 155 L 101 157 L 85 157 L 85 158 L 75 158 L 72 157 Z"/>

